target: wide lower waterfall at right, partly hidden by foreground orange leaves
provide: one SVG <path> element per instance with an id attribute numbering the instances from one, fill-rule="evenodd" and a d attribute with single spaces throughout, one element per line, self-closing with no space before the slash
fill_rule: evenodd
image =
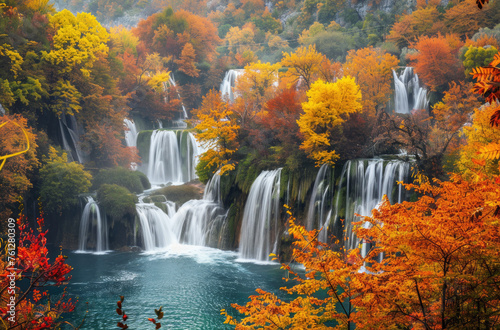
<path id="1" fill-rule="evenodd" d="M 347 249 L 358 246 L 352 223 L 355 214 L 371 215 L 384 195 L 391 203 L 406 200 L 406 190 L 398 181 L 408 182 L 410 164 L 401 160 L 351 160 L 342 169 L 335 200 L 335 233 L 344 238 Z M 343 222 L 338 221 L 344 219 Z"/>

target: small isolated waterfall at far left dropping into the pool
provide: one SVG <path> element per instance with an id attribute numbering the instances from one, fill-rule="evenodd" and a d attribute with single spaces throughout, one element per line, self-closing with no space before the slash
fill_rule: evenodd
<path id="1" fill-rule="evenodd" d="M 90 196 L 86 197 L 87 204 L 83 208 L 80 220 L 80 235 L 78 250 L 87 251 L 88 243 L 93 243 L 96 252 L 108 249 L 108 226 L 106 217 L 101 219 L 99 205 Z"/>

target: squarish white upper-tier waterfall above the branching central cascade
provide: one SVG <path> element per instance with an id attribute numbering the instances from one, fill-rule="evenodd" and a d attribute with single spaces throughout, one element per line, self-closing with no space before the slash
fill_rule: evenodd
<path id="1" fill-rule="evenodd" d="M 198 146 L 191 133 L 155 130 L 149 147 L 146 173 L 149 181 L 153 184 L 178 184 L 195 179 L 198 155 Z"/>

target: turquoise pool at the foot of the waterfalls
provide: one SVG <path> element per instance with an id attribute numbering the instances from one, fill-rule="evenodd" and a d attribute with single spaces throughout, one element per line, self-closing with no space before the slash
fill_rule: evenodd
<path id="1" fill-rule="evenodd" d="M 118 329 L 119 296 L 129 329 L 154 329 L 147 321 L 163 306 L 162 329 L 231 329 L 223 324 L 221 309 L 244 304 L 262 288 L 279 294 L 284 285 L 278 264 L 256 264 L 237 259 L 235 252 L 177 245 L 155 253 L 67 253 L 74 270 L 67 291 L 78 297 L 68 321 L 81 329 Z M 88 302 L 88 304 L 86 304 Z"/>

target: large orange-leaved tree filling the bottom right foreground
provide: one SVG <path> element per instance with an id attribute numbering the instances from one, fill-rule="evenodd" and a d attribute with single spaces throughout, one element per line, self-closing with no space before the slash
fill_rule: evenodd
<path id="1" fill-rule="evenodd" d="M 497 177 L 498 178 L 498 177 Z M 236 329 L 491 329 L 500 321 L 500 185 L 422 178 L 415 202 L 387 198 L 354 229 L 360 248 L 338 252 L 290 222 L 305 267 L 280 299 L 258 290 Z M 460 201 L 460 203 L 457 203 Z M 383 257 L 383 258 L 382 258 Z M 289 279 L 286 279 L 289 281 Z M 334 322 L 335 323 L 334 323 Z"/>

